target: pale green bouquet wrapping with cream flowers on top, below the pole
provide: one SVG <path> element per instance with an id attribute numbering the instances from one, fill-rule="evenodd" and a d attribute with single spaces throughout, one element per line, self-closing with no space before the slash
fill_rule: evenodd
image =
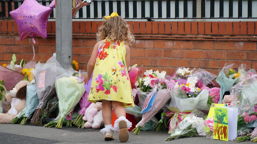
<path id="1" fill-rule="evenodd" d="M 83 83 L 78 83 L 73 77 L 62 77 L 56 80 L 56 92 L 59 99 L 59 118 L 68 115 L 80 101 L 85 88 Z M 60 121 L 59 121 L 60 122 Z M 61 124 L 57 126 L 61 128 Z"/>

